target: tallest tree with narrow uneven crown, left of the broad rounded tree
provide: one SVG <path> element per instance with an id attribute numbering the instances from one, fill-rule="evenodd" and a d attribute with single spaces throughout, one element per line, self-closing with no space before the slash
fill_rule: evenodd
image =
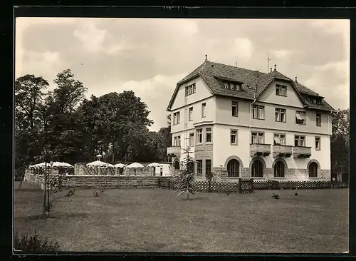
<path id="1" fill-rule="evenodd" d="M 77 108 L 83 101 L 87 88 L 75 80 L 70 69 L 57 74 L 53 81 L 57 87 L 48 92 L 42 108 L 43 140 L 56 151 L 56 160 L 77 160 L 83 147 L 82 117 Z"/>

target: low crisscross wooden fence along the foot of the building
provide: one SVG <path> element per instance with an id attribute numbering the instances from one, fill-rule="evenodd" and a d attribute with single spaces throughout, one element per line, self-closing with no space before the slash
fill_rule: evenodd
<path id="1" fill-rule="evenodd" d="M 177 179 L 158 178 L 158 188 L 176 189 Z M 194 189 L 200 192 L 253 193 L 253 190 L 296 190 L 322 188 L 348 188 L 347 183 L 323 180 L 253 180 L 239 178 L 239 182 L 200 181 L 193 182 Z"/>

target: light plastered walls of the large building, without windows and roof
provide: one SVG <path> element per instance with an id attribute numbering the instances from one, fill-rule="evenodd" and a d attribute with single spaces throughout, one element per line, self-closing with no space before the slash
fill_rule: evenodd
<path id="1" fill-rule="evenodd" d="M 196 92 L 187 96 L 187 101 L 185 101 L 185 88 L 193 83 L 196 84 Z M 287 96 L 276 95 L 276 84 L 286 86 Z M 237 116 L 232 116 L 231 113 L 233 102 L 238 104 Z M 202 115 L 201 111 L 202 103 L 206 105 L 204 115 Z M 253 118 L 253 105 L 263 106 L 263 119 Z M 184 110 L 185 108 L 187 108 L 187 113 Z M 193 108 L 190 116 L 189 108 Z M 286 110 L 285 121 L 276 121 L 276 108 Z M 296 113 L 299 113 L 299 111 L 305 113 L 305 124 L 296 123 Z M 179 123 L 174 121 L 174 113 L 177 112 L 179 112 Z M 320 126 L 316 123 L 317 113 L 321 115 Z M 185 118 L 187 118 L 187 126 L 184 126 Z M 288 165 L 288 170 L 293 170 L 293 173 L 297 173 L 295 175 L 301 176 L 302 174 L 300 173 L 303 170 L 307 170 L 308 164 L 315 162 L 318 164 L 317 178 L 322 178 L 322 176 L 325 178 L 324 174 L 321 175 L 325 171 L 330 175 L 330 112 L 305 108 L 298 93 L 290 83 L 272 81 L 266 90 L 261 93 L 258 100 L 253 101 L 228 96 L 213 96 L 209 91 L 209 87 L 206 86 L 206 83 L 201 78 L 194 78 L 180 86 L 172 103 L 171 119 L 172 146 L 179 146 L 175 141 L 175 137 L 179 136 L 181 148 L 184 148 L 185 145 L 189 145 L 189 133 L 194 133 L 194 145 L 191 146 L 193 158 L 195 158 L 195 150 L 199 145 L 197 129 L 202 128 L 202 145 L 212 145 L 211 155 L 206 156 L 208 158 L 211 157 L 211 171 L 226 170 L 229 158 L 239 158 L 240 176 L 245 171 L 245 177 L 251 177 L 251 161 L 255 158 L 254 155 L 251 155 L 251 133 L 258 132 L 263 133 L 263 143 L 270 145 L 271 152 L 269 155 L 259 157 L 263 159 L 265 164 L 265 170 L 263 171 L 272 169 L 273 162 L 281 158 L 279 156 L 273 157 L 274 134 L 284 135 L 286 143 L 283 145 L 291 147 L 295 147 L 295 135 L 301 135 L 305 139 L 303 146 L 310 147 L 311 155 L 309 157 L 296 158 L 294 157 L 295 150 L 293 148 L 293 154 L 283 158 Z M 211 128 L 210 143 L 206 143 L 206 128 Z M 231 144 L 231 131 L 237 131 L 236 144 Z M 320 140 L 318 143 L 320 149 L 315 148 L 315 138 Z M 186 139 L 187 143 L 184 143 Z M 174 148 L 169 148 L 169 150 L 172 149 Z M 177 154 L 177 157 L 172 158 L 172 163 L 177 160 L 183 160 L 183 150 L 180 150 L 180 152 L 180 155 Z M 172 168 L 174 168 L 174 164 Z M 203 167 L 203 169 L 202 178 L 204 179 L 205 168 Z"/>

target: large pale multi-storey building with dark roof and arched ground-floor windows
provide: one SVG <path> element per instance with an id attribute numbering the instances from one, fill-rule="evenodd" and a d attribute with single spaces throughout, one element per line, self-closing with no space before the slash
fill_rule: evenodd
<path id="1" fill-rule="evenodd" d="M 330 113 L 318 93 L 269 73 L 204 61 L 177 83 L 171 113 L 172 171 L 189 146 L 197 179 L 330 180 Z"/>

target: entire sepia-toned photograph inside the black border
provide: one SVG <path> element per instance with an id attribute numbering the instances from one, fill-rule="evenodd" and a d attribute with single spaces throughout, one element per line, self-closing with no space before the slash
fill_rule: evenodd
<path id="1" fill-rule="evenodd" d="M 14 28 L 15 254 L 349 251 L 350 20 Z"/>

